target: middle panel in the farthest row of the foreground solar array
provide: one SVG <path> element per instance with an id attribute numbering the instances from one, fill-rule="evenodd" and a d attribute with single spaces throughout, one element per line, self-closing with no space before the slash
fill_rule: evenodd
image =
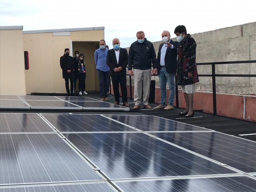
<path id="1" fill-rule="evenodd" d="M 42 114 L 60 132 L 136 131 L 101 115 Z"/>

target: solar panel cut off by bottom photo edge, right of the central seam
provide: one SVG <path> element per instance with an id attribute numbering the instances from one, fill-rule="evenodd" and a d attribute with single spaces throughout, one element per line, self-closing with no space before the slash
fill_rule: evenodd
<path id="1" fill-rule="evenodd" d="M 256 180 L 249 177 L 116 182 L 116 185 L 126 192 L 253 192 L 256 190 Z"/>

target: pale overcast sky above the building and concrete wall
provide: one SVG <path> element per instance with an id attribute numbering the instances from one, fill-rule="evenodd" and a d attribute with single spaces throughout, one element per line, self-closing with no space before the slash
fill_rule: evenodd
<path id="1" fill-rule="evenodd" d="M 256 0 L 0 0 L 0 26 L 23 26 L 24 31 L 105 27 L 106 44 L 119 38 L 121 47 L 136 41 L 143 30 L 160 41 L 163 30 L 174 37 L 177 25 L 188 33 L 256 22 Z"/>

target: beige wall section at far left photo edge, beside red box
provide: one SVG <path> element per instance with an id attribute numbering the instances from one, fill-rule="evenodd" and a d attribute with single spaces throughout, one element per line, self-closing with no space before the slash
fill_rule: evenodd
<path id="1" fill-rule="evenodd" d="M 24 95 L 23 26 L 0 27 L 0 94 Z"/>

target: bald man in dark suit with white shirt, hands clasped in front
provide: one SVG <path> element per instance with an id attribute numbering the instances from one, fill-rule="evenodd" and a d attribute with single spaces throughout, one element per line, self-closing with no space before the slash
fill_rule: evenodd
<path id="1" fill-rule="evenodd" d="M 120 41 L 114 38 L 112 41 L 113 49 L 108 50 L 106 63 L 110 68 L 110 76 L 112 79 L 113 90 L 115 95 L 115 103 L 119 105 L 119 83 L 121 86 L 123 106 L 128 107 L 127 89 L 126 89 L 126 66 L 128 65 L 128 52 L 126 49 L 120 48 Z"/>

